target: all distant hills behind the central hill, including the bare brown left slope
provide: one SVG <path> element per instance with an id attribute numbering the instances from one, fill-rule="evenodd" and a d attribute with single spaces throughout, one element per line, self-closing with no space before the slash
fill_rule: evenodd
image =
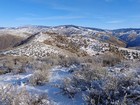
<path id="1" fill-rule="evenodd" d="M 81 36 L 92 38 L 100 42 L 114 44 L 121 47 L 139 47 L 140 46 L 140 29 L 126 28 L 116 30 L 105 30 L 99 28 L 82 27 L 75 25 L 60 25 L 60 26 L 22 26 L 4 28 L 0 27 L 0 49 L 8 48 L 9 46 L 17 46 L 18 44 L 30 41 L 30 37 L 40 32 L 56 33 L 57 35 L 65 35 L 67 37 Z M 5 38 L 3 35 L 12 35 Z M 6 42 L 4 42 L 4 40 Z M 9 40 L 8 40 L 9 39 Z M 7 41 L 8 40 L 8 41 Z M 14 41 L 13 41 L 14 40 Z M 9 43 L 9 44 L 6 44 Z"/>

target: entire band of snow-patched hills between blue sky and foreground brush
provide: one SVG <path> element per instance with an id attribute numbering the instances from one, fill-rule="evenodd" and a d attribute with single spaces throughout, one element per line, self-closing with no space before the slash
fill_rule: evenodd
<path id="1" fill-rule="evenodd" d="M 64 50 L 67 52 L 65 55 L 68 55 L 69 52 L 70 54 L 74 53 L 77 55 L 91 56 L 109 51 L 110 46 L 116 46 L 116 48 L 119 49 L 121 47 L 126 47 L 126 45 L 127 47 L 131 47 L 130 45 L 133 43 L 136 45 L 140 44 L 139 29 L 103 30 L 74 25 L 4 28 L 0 29 L 0 37 L 1 49 L 7 50 L 8 48 L 11 50 L 10 52 L 12 54 L 14 52 L 17 54 L 18 52 L 18 55 L 21 55 L 22 52 L 27 55 L 35 55 L 33 53 L 37 53 L 38 51 L 46 53 L 44 47 L 44 50 L 41 50 L 41 47 L 49 45 L 57 50 L 61 49 L 60 54 L 62 54 L 61 52 Z M 26 49 L 25 51 L 22 51 L 24 48 L 29 48 L 30 50 Z M 37 49 L 38 51 L 36 52 Z M 7 53 L 9 54 L 9 51 Z M 49 53 L 51 53 L 51 51 Z M 139 53 L 137 55 L 139 55 Z"/>

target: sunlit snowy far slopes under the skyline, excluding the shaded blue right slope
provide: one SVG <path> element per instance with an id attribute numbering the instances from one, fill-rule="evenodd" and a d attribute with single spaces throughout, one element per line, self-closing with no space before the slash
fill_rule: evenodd
<path id="1" fill-rule="evenodd" d="M 92 37 L 96 40 L 109 41 L 119 46 L 125 46 L 124 42 L 120 41 L 118 38 L 112 36 L 112 32 L 109 30 L 97 29 L 97 28 L 88 28 L 74 25 L 62 25 L 56 27 L 47 27 L 47 26 L 24 26 L 17 28 L 4 28 L 0 30 L 0 33 L 10 33 L 17 36 L 27 37 L 29 35 L 38 33 L 38 32 L 52 32 L 60 35 L 67 36 L 84 36 Z M 112 40 L 113 38 L 113 40 Z"/>

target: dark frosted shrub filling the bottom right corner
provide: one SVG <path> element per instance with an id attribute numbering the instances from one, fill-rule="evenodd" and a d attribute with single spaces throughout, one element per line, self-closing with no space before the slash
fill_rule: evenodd
<path id="1" fill-rule="evenodd" d="M 134 74 L 125 77 L 107 75 L 104 80 L 92 81 L 84 99 L 88 105 L 137 105 L 140 101 L 137 86 Z"/>

